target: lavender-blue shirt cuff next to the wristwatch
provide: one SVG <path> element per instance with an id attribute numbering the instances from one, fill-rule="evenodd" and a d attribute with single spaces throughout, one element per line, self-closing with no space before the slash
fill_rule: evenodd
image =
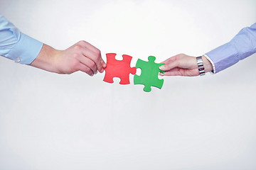
<path id="1" fill-rule="evenodd" d="M 213 73 L 218 73 L 239 62 L 238 51 L 230 42 L 207 52 L 206 56 L 214 63 Z"/>

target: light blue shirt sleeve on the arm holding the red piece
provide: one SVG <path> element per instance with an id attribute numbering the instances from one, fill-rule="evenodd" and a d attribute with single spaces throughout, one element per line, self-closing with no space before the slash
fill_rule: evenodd
<path id="1" fill-rule="evenodd" d="M 31 64 L 43 43 L 21 33 L 13 23 L 0 15 L 0 55 L 21 64 Z"/>

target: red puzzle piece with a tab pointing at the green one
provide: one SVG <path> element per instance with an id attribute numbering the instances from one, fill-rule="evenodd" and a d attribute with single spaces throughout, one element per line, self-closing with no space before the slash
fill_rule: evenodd
<path id="1" fill-rule="evenodd" d="M 136 67 L 130 67 L 132 57 L 122 55 L 123 60 L 116 60 L 115 53 L 107 54 L 107 67 L 105 68 L 105 77 L 103 81 L 114 83 L 113 78 L 119 77 L 119 84 L 129 84 L 129 74 L 136 74 Z"/>

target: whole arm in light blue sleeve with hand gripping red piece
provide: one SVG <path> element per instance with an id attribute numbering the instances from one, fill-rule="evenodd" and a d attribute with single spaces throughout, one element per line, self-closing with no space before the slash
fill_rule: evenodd
<path id="1" fill-rule="evenodd" d="M 106 67 L 100 50 L 80 41 L 66 50 L 55 50 L 28 35 L 21 33 L 0 15 L 0 55 L 21 64 L 58 74 L 82 71 L 90 76 Z"/>

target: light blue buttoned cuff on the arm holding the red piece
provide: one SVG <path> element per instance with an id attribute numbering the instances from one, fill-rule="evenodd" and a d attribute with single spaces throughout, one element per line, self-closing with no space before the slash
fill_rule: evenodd
<path id="1" fill-rule="evenodd" d="M 20 40 L 14 45 L 14 48 L 6 57 L 21 64 L 31 64 L 38 56 L 42 47 L 43 42 L 21 33 Z"/>

